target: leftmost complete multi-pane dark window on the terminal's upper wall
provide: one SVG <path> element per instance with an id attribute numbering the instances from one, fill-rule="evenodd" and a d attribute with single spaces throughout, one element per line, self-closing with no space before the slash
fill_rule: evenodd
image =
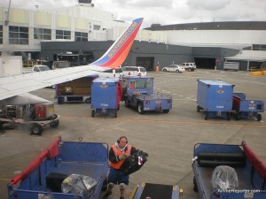
<path id="1" fill-rule="evenodd" d="M 10 44 L 28 44 L 28 27 L 9 27 Z"/>

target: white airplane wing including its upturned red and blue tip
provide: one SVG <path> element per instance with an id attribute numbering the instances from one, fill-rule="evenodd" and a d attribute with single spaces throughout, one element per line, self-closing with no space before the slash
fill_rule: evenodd
<path id="1" fill-rule="evenodd" d="M 1 77 L 0 104 L 3 99 L 12 96 L 117 68 L 128 56 L 142 21 L 143 18 L 133 20 L 106 53 L 90 65 Z"/>

